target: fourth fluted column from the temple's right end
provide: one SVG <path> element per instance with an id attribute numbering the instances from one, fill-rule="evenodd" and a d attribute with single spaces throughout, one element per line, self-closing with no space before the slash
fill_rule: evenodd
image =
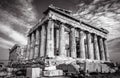
<path id="1" fill-rule="evenodd" d="M 86 33 L 86 38 L 87 38 L 88 59 L 93 59 L 94 55 L 92 51 L 91 34 L 89 32 Z"/>

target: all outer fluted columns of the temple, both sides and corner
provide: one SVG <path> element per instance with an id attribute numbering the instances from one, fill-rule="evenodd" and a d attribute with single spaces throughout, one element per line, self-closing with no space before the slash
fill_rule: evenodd
<path id="1" fill-rule="evenodd" d="M 29 35 L 28 51 L 26 55 L 28 59 L 42 56 L 54 57 L 54 26 L 54 21 L 49 19 L 47 26 L 43 25 L 41 28 L 36 29 L 35 33 Z M 75 31 L 75 28 L 70 29 L 70 52 L 71 57 L 74 58 L 77 56 Z M 87 44 L 85 44 L 85 34 Z M 65 25 L 61 24 L 59 28 L 59 56 L 66 56 L 64 41 Z M 85 49 L 85 46 L 87 47 L 87 50 Z M 98 37 L 96 34 L 92 35 L 89 32 L 86 33 L 79 30 L 79 49 L 80 58 L 108 60 L 106 40 L 102 37 Z"/>

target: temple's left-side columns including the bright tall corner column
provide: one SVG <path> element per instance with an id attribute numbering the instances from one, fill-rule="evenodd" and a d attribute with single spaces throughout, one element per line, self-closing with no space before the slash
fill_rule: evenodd
<path id="1" fill-rule="evenodd" d="M 54 57 L 54 23 L 51 19 L 48 25 L 36 29 L 28 37 L 26 58 Z"/>

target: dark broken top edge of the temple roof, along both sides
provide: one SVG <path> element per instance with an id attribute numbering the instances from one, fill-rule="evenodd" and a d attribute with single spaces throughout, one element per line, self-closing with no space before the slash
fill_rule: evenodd
<path id="1" fill-rule="evenodd" d="M 104 29 L 104 28 L 98 28 L 98 27 L 92 26 L 92 25 L 90 25 L 90 24 L 87 24 L 86 22 L 83 22 L 83 21 L 80 21 L 80 20 L 76 19 L 75 17 L 71 16 L 71 11 L 69 11 L 69 10 L 61 9 L 61 8 L 55 7 L 55 6 L 53 6 L 53 5 L 50 5 L 50 6 L 47 8 L 47 10 L 45 10 L 45 11 L 43 12 L 43 14 L 47 14 L 50 10 L 52 10 L 52 11 L 54 11 L 54 12 L 57 12 L 57 13 L 59 13 L 59 14 L 61 14 L 61 15 L 64 15 L 64 16 L 66 16 L 67 18 L 70 18 L 70 19 L 72 19 L 72 20 L 74 20 L 74 21 L 76 21 L 76 22 L 80 22 L 80 23 L 82 23 L 82 24 L 84 24 L 84 25 L 86 25 L 86 26 L 89 26 L 89 27 L 94 28 L 94 29 L 96 29 L 96 30 L 98 30 L 98 31 L 101 31 L 101 32 L 103 32 L 103 33 L 105 33 L 105 34 L 108 34 L 108 33 L 109 33 L 109 31 L 106 30 L 106 29 Z M 34 26 L 32 29 L 30 29 L 28 35 L 29 35 L 30 33 L 32 33 L 37 27 L 39 27 L 39 25 L 42 25 L 42 23 L 45 22 L 45 20 L 47 20 L 47 18 L 43 19 L 42 22 L 40 21 L 41 23 L 38 22 L 38 24 L 36 24 L 36 26 Z"/>

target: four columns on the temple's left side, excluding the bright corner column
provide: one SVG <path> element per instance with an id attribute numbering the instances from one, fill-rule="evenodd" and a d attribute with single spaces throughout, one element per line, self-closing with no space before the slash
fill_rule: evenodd
<path id="1" fill-rule="evenodd" d="M 33 59 L 44 56 L 45 42 L 46 42 L 46 29 L 45 26 L 37 29 L 35 32 L 28 36 L 28 47 L 26 58 Z"/>

